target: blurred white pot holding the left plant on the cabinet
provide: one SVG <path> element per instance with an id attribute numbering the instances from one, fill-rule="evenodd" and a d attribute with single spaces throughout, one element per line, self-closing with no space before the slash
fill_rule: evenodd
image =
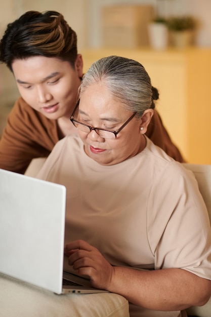
<path id="1" fill-rule="evenodd" d="M 154 50 L 164 50 L 168 45 L 168 29 L 164 23 L 148 25 L 149 44 Z"/>

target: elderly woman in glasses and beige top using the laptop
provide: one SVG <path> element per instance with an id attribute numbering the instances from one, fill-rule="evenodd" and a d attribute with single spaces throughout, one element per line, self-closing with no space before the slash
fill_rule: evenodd
<path id="1" fill-rule="evenodd" d="M 186 316 L 211 294 L 210 226 L 193 174 L 145 135 L 154 99 L 140 63 L 100 59 L 70 117 L 79 137 L 37 177 L 67 188 L 69 268 L 127 298 L 132 317 Z"/>

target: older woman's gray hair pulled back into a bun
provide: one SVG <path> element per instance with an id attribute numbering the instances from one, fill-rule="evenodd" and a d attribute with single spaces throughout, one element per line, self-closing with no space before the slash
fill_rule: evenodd
<path id="1" fill-rule="evenodd" d="M 126 110 L 137 112 L 137 118 L 146 109 L 154 109 L 154 100 L 159 98 L 147 71 L 133 59 L 109 56 L 93 63 L 82 78 L 79 97 L 86 88 L 99 83 L 103 83 Z"/>

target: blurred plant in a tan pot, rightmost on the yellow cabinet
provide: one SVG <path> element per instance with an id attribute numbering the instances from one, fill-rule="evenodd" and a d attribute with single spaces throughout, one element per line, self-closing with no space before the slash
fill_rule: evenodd
<path id="1" fill-rule="evenodd" d="M 196 21 L 191 16 L 175 16 L 167 20 L 173 45 L 185 48 L 193 43 Z"/>

